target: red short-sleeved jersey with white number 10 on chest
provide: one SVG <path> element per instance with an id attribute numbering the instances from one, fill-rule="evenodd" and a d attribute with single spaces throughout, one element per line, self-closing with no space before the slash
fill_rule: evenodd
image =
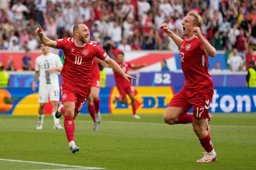
<path id="1" fill-rule="evenodd" d="M 63 84 L 67 82 L 79 88 L 90 87 L 93 57 L 96 56 L 103 61 L 109 58 L 107 53 L 92 41 L 80 46 L 72 37 L 55 41 L 54 48 L 63 49 Z"/>

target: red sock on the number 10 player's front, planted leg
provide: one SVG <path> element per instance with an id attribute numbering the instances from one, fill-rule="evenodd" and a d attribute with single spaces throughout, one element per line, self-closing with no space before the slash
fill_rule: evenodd
<path id="1" fill-rule="evenodd" d="M 66 135 L 68 138 L 68 142 L 74 141 L 75 123 L 74 123 L 73 117 L 65 116 L 64 127 L 65 127 Z"/>

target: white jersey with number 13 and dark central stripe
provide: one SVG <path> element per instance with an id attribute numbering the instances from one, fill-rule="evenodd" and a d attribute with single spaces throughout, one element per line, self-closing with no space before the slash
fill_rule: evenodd
<path id="1" fill-rule="evenodd" d="M 57 54 L 49 53 L 36 58 L 35 70 L 39 71 L 39 81 L 43 84 L 58 83 L 58 71 L 49 73 L 53 67 L 62 67 L 60 57 Z"/>

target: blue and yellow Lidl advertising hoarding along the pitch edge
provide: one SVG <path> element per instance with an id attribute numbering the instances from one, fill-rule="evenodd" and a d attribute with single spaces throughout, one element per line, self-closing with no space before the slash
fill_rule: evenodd
<path id="1" fill-rule="evenodd" d="M 138 114 L 163 114 L 173 95 L 181 88 L 145 86 L 134 89 Z M 100 90 L 100 112 L 132 114 L 131 104 L 112 102 L 115 95 L 118 95 L 116 87 Z M 31 88 L 0 89 L 0 114 L 37 115 L 37 101 L 38 93 L 33 93 Z M 45 112 L 51 113 L 50 103 L 46 104 Z M 214 88 L 210 112 L 256 112 L 256 88 Z M 81 113 L 88 113 L 86 103 Z"/>

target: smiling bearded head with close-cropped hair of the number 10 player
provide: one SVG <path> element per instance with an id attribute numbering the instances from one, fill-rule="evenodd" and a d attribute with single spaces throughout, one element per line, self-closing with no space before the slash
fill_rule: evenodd
<path id="1" fill-rule="evenodd" d="M 81 41 L 82 43 L 87 43 L 90 36 L 90 31 L 84 23 L 77 23 L 73 27 L 73 34 L 75 39 Z"/>

